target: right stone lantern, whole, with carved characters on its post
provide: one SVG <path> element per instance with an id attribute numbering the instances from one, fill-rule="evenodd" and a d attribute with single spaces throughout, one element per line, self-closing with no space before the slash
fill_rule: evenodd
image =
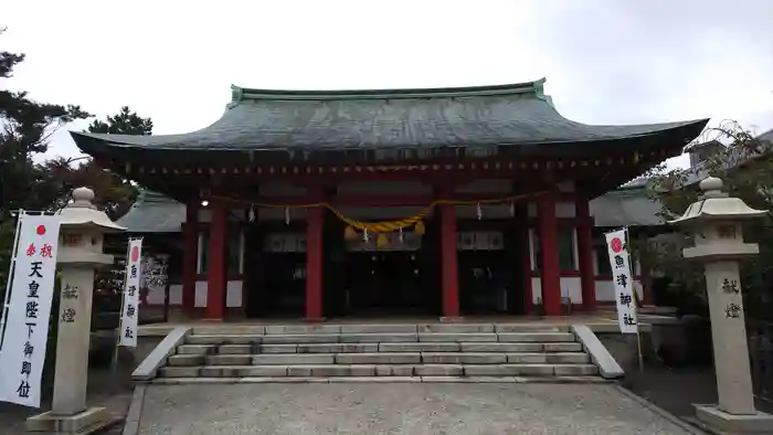
<path id="1" fill-rule="evenodd" d="M 773 415 L 754 407 L 738 261 L 756 255 L 759 247 L 744 243 L 741 223 L 767 214 L 722 192 L 722 180 L 700 182 L 703 197 L 670 223 L 695 236 L 684 250 L 686 259 L 705 264 L 711 337 L 719 404 L 695 405 L 701 423 L 729 434 L 773 434 Z"/>

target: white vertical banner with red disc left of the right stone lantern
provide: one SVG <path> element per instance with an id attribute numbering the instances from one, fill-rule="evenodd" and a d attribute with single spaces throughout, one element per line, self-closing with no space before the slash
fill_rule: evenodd
<path id="1" fill-rule="evenodd" d="M 612 284 L 615 288 L 617 322 L 622 333 L 637 333 L 636 298 L 634 297 L 634 276 L 631 269 L 628 251 L 628 229 L 606 233 L 606 248 L 612 266 Z"/>

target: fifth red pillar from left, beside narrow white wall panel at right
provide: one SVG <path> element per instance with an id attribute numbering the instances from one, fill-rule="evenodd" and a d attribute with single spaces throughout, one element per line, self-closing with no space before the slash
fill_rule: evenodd
<path id="1" fill-rule="evenodd" d="M 548 316 L 561 315 L 561 270 L 559 269 L 558 220 L 555 195 L 543 194 L 538 200 L 541 246 L 542 307 Z"/>

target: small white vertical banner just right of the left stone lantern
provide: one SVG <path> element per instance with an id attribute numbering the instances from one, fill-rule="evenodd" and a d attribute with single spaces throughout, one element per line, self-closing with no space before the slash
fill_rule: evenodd
<path id="1" fill-rule="evenodd" d="M 120 310 L 118 346 L 137 347 L 137 319 L 139 318 L 139 284 L 142 264 L 142 240 L 129 240 L 124 279 L 124 304 Z"/>

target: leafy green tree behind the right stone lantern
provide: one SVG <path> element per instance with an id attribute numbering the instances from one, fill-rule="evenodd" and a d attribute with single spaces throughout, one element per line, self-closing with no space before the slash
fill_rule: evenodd
<path id="1" fill-rule="evenodd" d="M 696 181 L 708 176 L 721 178 L 723 190 L 750 206 L 773 210 L 773 144 L 770 140 L 753 135 L 734 121 L 708 129 L 698 140 L 711 142 L 714 147 L 703 156 L 697 169 L 668 169 L 663 165 L 650 173 L 648 194 L 659 201 L 661 217 L 673 220 L 680 216 L 700 198 Z M 681 247 L 690 243 L 690 237 L 676 232 L 670 243 L 648 251 L 648 262 L 671 278 L 684 295 L 705 301 L 702 265 L 681 256 Z M 772 318 L 773 298 L 769 287 L 773 283 L 773 221 L 767 216 L 745 223 L 744 238 L 760 244 L 760 255 L 742 265 L 748 315 Z"/>

